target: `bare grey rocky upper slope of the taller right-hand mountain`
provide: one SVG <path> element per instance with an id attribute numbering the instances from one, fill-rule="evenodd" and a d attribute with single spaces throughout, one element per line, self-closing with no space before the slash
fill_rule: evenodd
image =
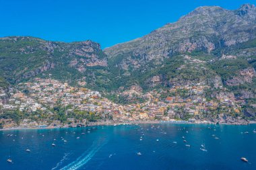
<path id="1" fill-rule="evenodd" d="M 221 7 L 198 7 L 178 22 L 166 24 L 150 34 L 106 48 L 109 58 L 119 58 L 123 65 L 138 68 L 154 61 L 195 50 L 212 52 L 256 38 L 256 8 L 243 5 L 230 11 Z M 125 67 L 127 68 L 127 67 Z M 124 68 L 124 69 L 125 69 Z"/>

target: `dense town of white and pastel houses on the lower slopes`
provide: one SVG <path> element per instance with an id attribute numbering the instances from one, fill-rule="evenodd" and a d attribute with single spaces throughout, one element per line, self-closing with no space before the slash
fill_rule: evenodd
<path id="1" fill-rule="evenodd" d="M 143 103 L 117 104 L 102 97 L 98 91 L 72 87 L 54 79 L 36 78 L 10 89 L 9 100 L 0 103 L 1 128 L 76 127 L 181 120 L 193 123 L 224 122 L 218 118 L 220 116 L 216 120 L 212 119 L 218 112 L 240 118 L 241 105 L 245 102 L 243 99 L 234 99 L 225 93 L 213 99 L 205 96 L 209 89 L 207 85 L 197 84 L 148 93 L 131 90 L 125 92 L 126 96 L 142 97 Z M 8 113 L 22 116 L 15 121 Z M 207 118 L 207 115 L 212 117 Z"/>

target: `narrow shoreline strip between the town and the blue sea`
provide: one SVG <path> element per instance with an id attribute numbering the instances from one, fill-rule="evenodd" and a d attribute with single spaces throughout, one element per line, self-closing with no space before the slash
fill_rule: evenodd
<path id="1" fill-rule="evenodd" d="M 150 121 L 132 121 L 132 122 L 90 122 L 90 124 L 87 124 L 86 126 L 77 126 L 77 127 L 71 127 L 71 126 L 45 126 L 45 127 L 13 127 L 13 128 L 3 128 L 0 129 L 0 131 L 7 131 L 7 130 L 44 130 L 44 129 L 62 129 L 62 128 L 86 128 L 86 127 L 93 127 L 93 126 L 118 126 L 118 125 L 138 125 L 138 124 L 161 124 L 161 123 L 167 123 L 167 124 L 209 124 L 209 125 L 216 125 L 214 122 L 188 122 L 185 120 L 169 120 L 169 121 L 163 121 L 163 120 L 150 120 Z M 241 124 L 241 123 L 219 123 L 218 125 L 250 125 L 250 124 L 256 124 L 256 122 L 248 122 L 248 124 Z"/>

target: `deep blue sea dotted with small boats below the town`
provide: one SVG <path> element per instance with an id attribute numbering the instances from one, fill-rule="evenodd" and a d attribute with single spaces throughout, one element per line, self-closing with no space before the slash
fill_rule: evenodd
<path id="1" fill-rule="evenodd" d="M 5 130 L 0 131 L 0 169 L 255 170 L 254 129 L 256 125 L 162 123 Z M 200 150 L 201 144 L 207 151 Z M 9 157 L 13 163 L 7 162 Z"/>

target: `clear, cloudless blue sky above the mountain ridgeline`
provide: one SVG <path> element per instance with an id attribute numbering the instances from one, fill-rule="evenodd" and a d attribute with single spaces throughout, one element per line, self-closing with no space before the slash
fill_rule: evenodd
<path id="1" fill-rule="evenodd" d="M 0 0 L 0 37 L 35 36 L 102 48 L 133 40 L 203 5 L 237 9 L 255 0 Z"/>

